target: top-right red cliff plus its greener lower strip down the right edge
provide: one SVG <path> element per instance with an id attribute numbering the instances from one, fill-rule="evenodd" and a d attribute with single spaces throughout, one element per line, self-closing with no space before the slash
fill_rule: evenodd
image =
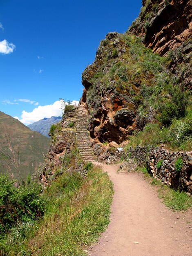
<path id="1" fill-rule="evenodd" d="M 143 0 L 142 4 L 141 13 L 128 31 L 140 36 L 153 52 L 168 56 L 169 68 L 180 86 L 192 90 L 192 1 Z"/>

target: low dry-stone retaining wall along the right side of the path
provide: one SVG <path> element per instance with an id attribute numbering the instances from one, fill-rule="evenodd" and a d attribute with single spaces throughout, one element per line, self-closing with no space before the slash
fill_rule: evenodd
<path id="1" fill-rule="evenodd" d="M 192 194 L 192 151 L 173 152 L 160 147 L 136 146 L 127 151 L 126 157 L 136 159 L 140 166 L 147 166 L 148 172 L 167 186 Z M 176 161 L 181 162 L 180 170 L 176 170 Z"/>

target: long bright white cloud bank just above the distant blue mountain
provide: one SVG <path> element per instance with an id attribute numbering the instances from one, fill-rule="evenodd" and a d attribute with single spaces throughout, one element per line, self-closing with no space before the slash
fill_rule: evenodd
<path id="1" fill-rule="evenodd" d="M 77 103 L 79 101 L 74 101 Z M 46 105 L 46 106 L 38 106 L 37 108 L 34 108 L 32 112 L 27 112 L 25 110 L 22 111 L 21 119 L 18 117 L 15 117 L 19 121 L 21 121 L 23 124 L 28 125 L 32 124 L 36 121 L 39 121 L 40 119 L 43 119 L 44 117 L 58 117 L 62 115 L 61 110 L 61 101 L 55 101 L 53 104 Z"/>

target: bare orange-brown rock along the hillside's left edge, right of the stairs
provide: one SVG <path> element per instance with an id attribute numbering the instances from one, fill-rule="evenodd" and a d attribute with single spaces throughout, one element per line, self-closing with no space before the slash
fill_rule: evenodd
<path id="1" fill-rule="evenodd" d="M 94 63 L 83 72 L 82 83 L 85 89 L 80 104 L 89 111 L 88 129 L 95 139 L 94 143 L 121 143 L 134 130 L 136 112 L 130 93 L 118 88 L 116 79 L 107 82 L 107 87 L 105 82 L 99 81 L 103 73 L 109 72 L 125 52 L 126 45 L 121 35 L 117 32 L 108 33 L 100 43 Z M 135 85 L 132 87 L 138 90 Z"/>

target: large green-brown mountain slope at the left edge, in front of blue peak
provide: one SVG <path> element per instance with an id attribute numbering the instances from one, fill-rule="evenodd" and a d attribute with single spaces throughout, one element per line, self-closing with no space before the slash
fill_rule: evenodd
<path id="1" fill-rule="evenodd" d="M 0 174 L 20 180 L 43 162 L 50 140 L 0 111 Z"/>

